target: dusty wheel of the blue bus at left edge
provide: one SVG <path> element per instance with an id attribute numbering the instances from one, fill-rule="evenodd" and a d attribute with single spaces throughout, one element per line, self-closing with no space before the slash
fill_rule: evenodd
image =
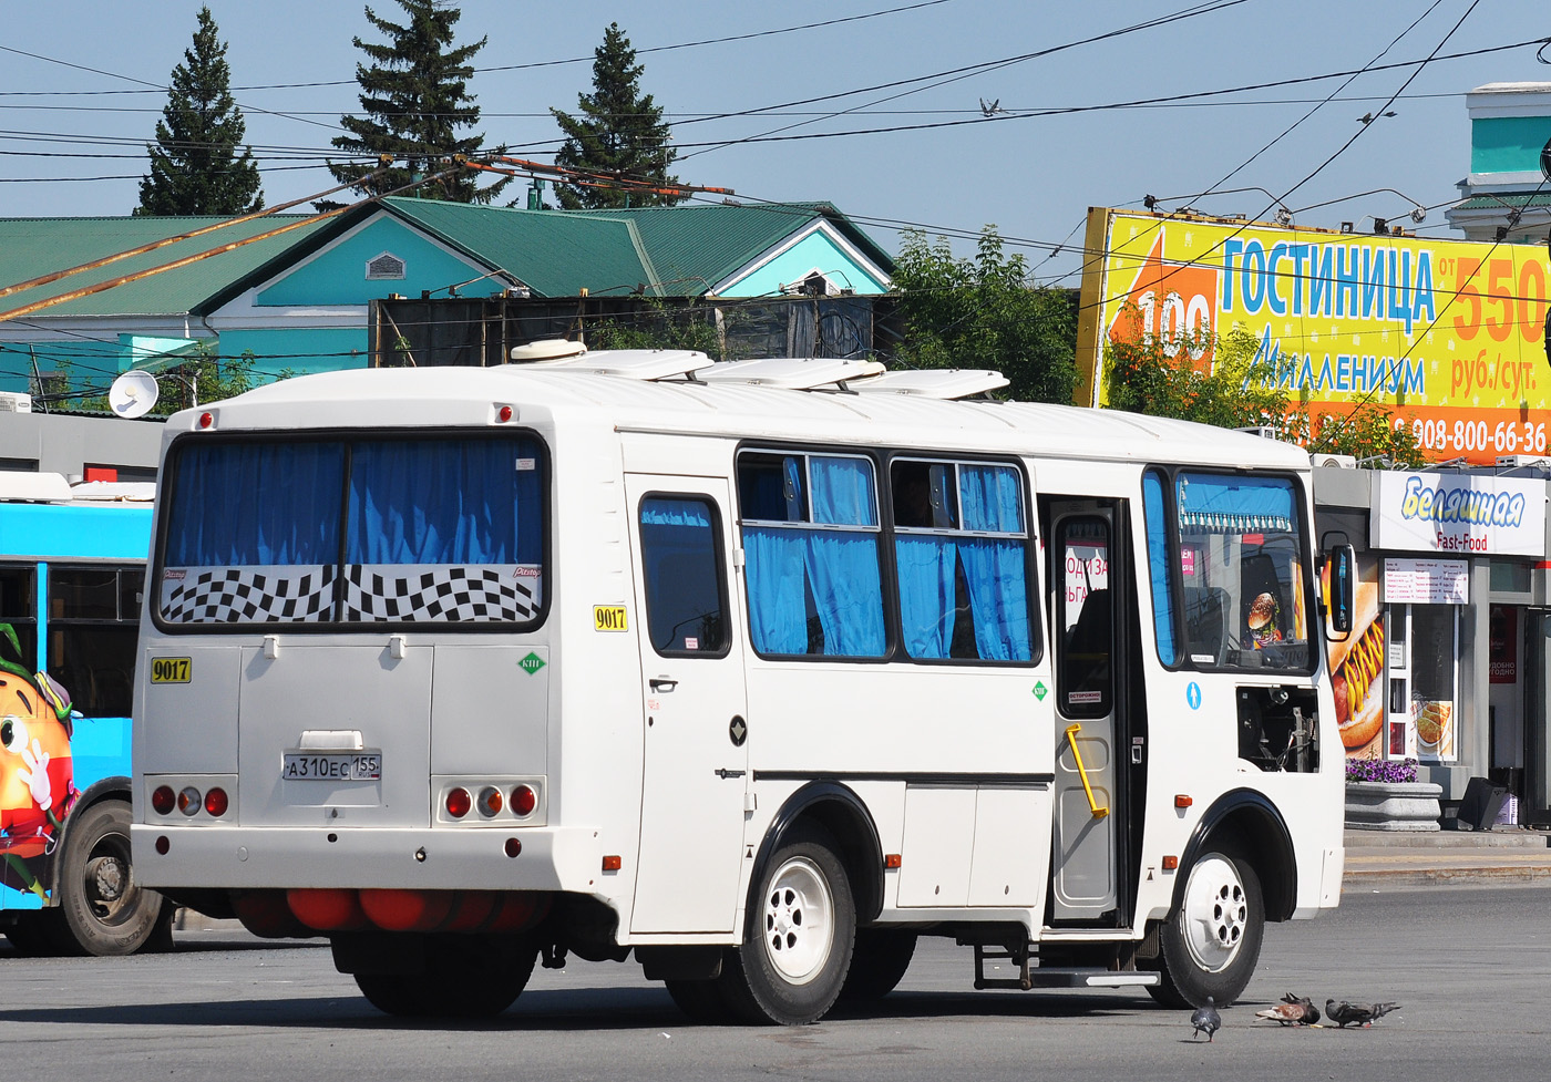
<path id="1" fill-rule="evenodd" d="M 102 800 L 65 820 L 54 865 L 59 919 L 48 927 L 67 955 L 132 955 L 157 935 L 163 898 L 135 882 L 129 859 L 129 803 Z"/>

